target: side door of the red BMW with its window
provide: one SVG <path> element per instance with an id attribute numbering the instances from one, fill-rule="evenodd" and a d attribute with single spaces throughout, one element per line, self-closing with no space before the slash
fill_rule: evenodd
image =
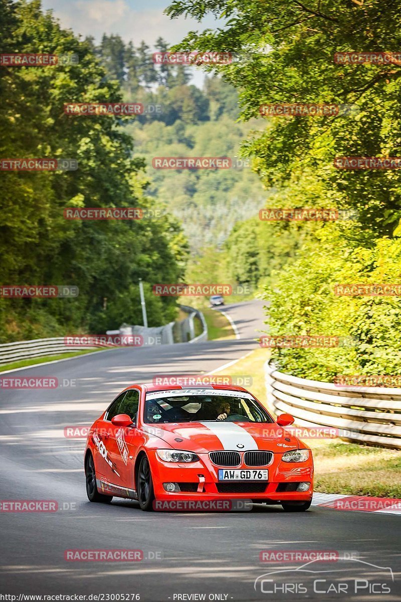
<path id="1" fill-rule="evenodd" d="M 132 426 L 115 426 L 109 422 L 110 436 L 108 439 L 108 449 L 110 458 L 115 466 L 114 481 L 115 485 L 123 488 L 133 489 L 133 459 L 136 456 L 139 437 L 136 432 L 136 417 L 139 407 L 139 390 L 129 389 L 118 406 L 117 413 L 107 416 L 111 421 L 117 414 L 127 414 L 133 421 Z"/>

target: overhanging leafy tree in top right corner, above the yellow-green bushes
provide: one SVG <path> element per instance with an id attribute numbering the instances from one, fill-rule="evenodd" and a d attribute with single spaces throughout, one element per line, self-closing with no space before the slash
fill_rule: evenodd
<path id="1" fill-rule="evenodd" d="M 239 60 L 208 66 L 240 90 L 243 119 L 259 114 L 266 103 L 329 102 L 354 105 L 357 113 L 338 117 L 273 118 L 273 128 L 245 145 L 259 157 L 266 185 L 283 185 L 294 169 L 316 172 L 316 179 L 334 189 L 338 199 L 360 212 L 360 220 L 376 234 L 391 235 L 401 217 L 400 172 L 335 169 L 333 160 L 349 156 L 400 154 L 399 96 L 401 66 L 335 64 L 335 52 L 396 51 L 400 29 L 394 26 L 401 7 L 391 0 L 302 2 L 284 0 L 208 0 L 192 4 L 175 0 L 171 17 L 207 13 L 225 17 L 213 31 L 191 32 L 179 48 L 190 51 L 232 51 Z M 269 119 L 270 120 L 270 119 Z M 301 182 L 301 179 L 300 179 Z M 301 183 L 302 185 L 302 183 Z"/>

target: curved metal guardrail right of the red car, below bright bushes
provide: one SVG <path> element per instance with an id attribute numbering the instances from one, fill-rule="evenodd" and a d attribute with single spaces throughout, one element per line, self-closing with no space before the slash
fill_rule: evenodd
<path id="1" fill-rule="evenodd" d="M 401 448 L 401 388 L 337 386 L 278 371 L 266 362 L 268 401 L 299 426 L 340 430 L 349 441 Z"/>

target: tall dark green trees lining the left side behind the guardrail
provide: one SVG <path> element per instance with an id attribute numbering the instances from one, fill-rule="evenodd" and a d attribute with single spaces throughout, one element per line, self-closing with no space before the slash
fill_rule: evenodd
<path id="1" fill-rule="evenodd" d="M 179 281 L 186 242 L 176 219 L 68 221 L 69 206 L 141 206 L 144 161 L 114 117 L 75 117 L 66 102 L 119 102 L 120 84 L 106 76 L 91 40 L 61 29 L 37 0 L 0 0 L 2 52 L 76 53 L 78 64 L 1 67 L 0 155 L 74 158 L 75 172 L 2 172 L 0 281 L 3 284 L 78 285 L 76 299 L 1 299 L 0 340 L 77 330 L 104 332 L 122 321 L 141 323 L 138 278 Z M 124 54 L 111 43 L 115 57 Z M 150 325 L 170 321 L 173 299 L 152 299 Z"/>

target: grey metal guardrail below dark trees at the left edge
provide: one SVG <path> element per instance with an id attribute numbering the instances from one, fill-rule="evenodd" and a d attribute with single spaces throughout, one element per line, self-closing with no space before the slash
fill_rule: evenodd
<path id="1" fill-rule="evenodd" d="M 99 344 L 96 347 L 107 346 Z M 5 343 L 0 345 L 0 365 L 19 362 L 21 359 L 40 358 L 44 355 L 58 355 L 59 353 L 69 353 L 80 349 L 96 349 L 96 347 L 85 345 L 67 346 L 64 343 L 64 337 Z"/>

